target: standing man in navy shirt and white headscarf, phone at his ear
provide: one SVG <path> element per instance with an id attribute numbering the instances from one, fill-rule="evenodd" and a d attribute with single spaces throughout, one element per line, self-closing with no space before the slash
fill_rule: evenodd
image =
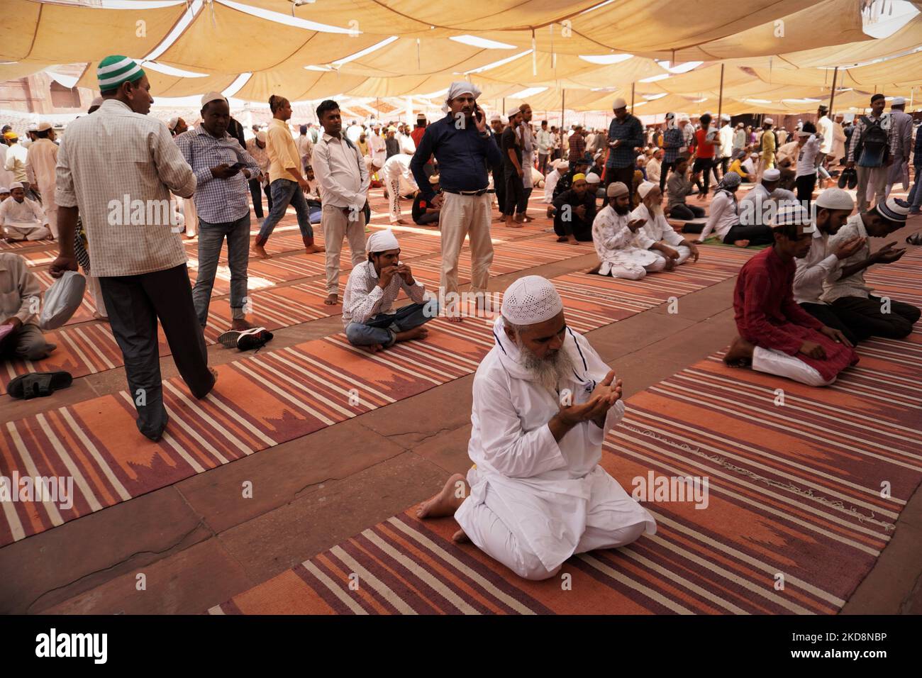
<path id="1" fill-rule="evenodd" d="M 442 279 L 439 305 L 445 316 L 461 320 L 458 303 L 458 256 L 465 236 L 470 239 L 470 289 L 478 294 L 478 303 L 487 291 L 493 244 L 490 238 L 490 200 L 487 193 L 487 168 L 499 164 L 502 155 L 496 145 L 487 116 L 477 103 L 480 90 L 469 82 L 453 82 L 448 89 L 442 120 L 432 123 L 420 140 L 409 168 L 420 186 L 426 202 L 441 208 Z M 431 156 L 439 163 L 439 184 L 443 194 L 437 196 L 426 176 L 426 161 Z"/>

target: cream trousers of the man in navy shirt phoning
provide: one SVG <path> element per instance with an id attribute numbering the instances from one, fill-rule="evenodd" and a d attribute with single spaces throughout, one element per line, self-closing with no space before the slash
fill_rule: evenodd
<path id="1" fill-rule="evenodd" d="M 444 294 L 458 291 L 458 256 L 465 236 L 470 238 L 470 288 L 487 291 L 493 243 L 490 238 L 490 194 L 458 196 L 444 193 L 439 228 L 442 231 L 442 279 Z"/>

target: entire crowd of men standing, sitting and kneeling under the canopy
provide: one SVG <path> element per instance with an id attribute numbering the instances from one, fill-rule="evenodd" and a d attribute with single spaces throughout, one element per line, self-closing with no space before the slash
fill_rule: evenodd
<path id="1" fill-rule="evenodd" d="M 902 228 L 922 193 L 913 191 L 912 204 L 887 196 L 904 181 L 912 125 L 895 113 L 881 125 L 879 95 L 871 113 L 843 131 L 844 139 L 821 108 L 817 125 L 800 125 L 796 139 L 786 142 L 775 136 L 771 118 L 762 121 L 761 136 L 752 137 L 727 116 L 713 125 L 708 113 L 697 125 L 670 113 L 662 129 L 644 131 L 621 99 L 613 102 L 608 130 L 573 125 L 564 134 L 545 121 L 533 125 L 527 104 L 506 119 L 488 118 L 479 89 L 459 81 L 447 92 L 442 118 L 430 124 L 420 117 L 412 129 L 389 126 L 384 134 L 377 125 L 371 134 L 361 125 L 344 128 L 337 102 L 327 100 L 316 109 L 322 131 L 305 125 L 293 137 L 290 101 L 273 95 L 268 128 L 246 141 L 219 92 L 202 97 L 198 125 L 181 118 L 163 125 L 148 116 L 153 99 L 140 65 L 111 56 L 97 75 L 100 100 L 68 126 L 60 146 L 51 125 L 37 125 L 25 153 L 16 134 L 5 132 L 4 167 L 13 181 L 3 189 L 9 195 L 0 204 L 0 222 L 8 237 L 57 240 L 54 278 L 79 266 L 96 280 L 97 308 L 123 352 L 137 428 L 154 441 L 169 422 L 158 323 L 179 374 L 195 398 L 205 398 L 218 377 L 207 364 L 204 329 L 217 321 L 209 306 L 221 249 L 226 241 L 231 327 L 219 340 L 228 347 L 261 345 L 271 334 L 246 317 L 249 258 L 271 256 L 266 245 L 289 206 L 305 253 L 325 257 L 327 304 L 340 302 L 339 257 L 343 241 L 349 243 L 343 327 L 350 343 L 372 353 L 425 339 L 424 326 L 437 315 L 463 320 L 469 308 L 458 295 L 458 259 L 466 240 L 471 293 L 482 308 L 494 197 L 504 226 L 521 228 L 533 219 L 528 202 L 536 186 L 544 188 L 558 239 L 594 244 L 593 274 L 640 280 L 693 266 L 712 233 L 724 244 L 767 245 L 739 273 L 739 336 L 726 353 L 729 365 L 826 386 L 857 363 L 858 342 L 902 339 L 919 319 L 919 309 L 876 296 L 864 279 L 869 267 L 904 255 L 893 244 L 872 253 L 869 238 Z M 896 113 L 901 105 L 892 102 Z M 918 141 L 916 135 L 916 150 Z M 753 149 L 757 157 L 746 167 L 742 159 Z M 841 188 L 813 197 L 821 169 L 836 161 L 845 162 L 843 170 L 857 169 L 857 211 Z M 784 187 L 786 170 L 795 174 L 797 195 Z M 712 175 L 716 186 L 705 214 Z M 744 179 L 754 185 L 738 200 Z M 376 181 L 388 194 L 392 223 L 403 223 L 400 197 L 412 196 L 414 222 L 439 229 L 437 296 L 400 260 L 394 232 L 366 236 Z M 695 189 L 701 205 L 687 202 Z M 124 220 L 127 208 L 113 211 L 112 201 L 126 195 L 133 203 L 171 207 L 153 220 Z M 189 203 L 182 221 L 171 196 Z M 252 244 L 251 200 L 262 220 Z M 315 224 L 323 245 L 315 241 Z M 198 238 L 194 286 L 183 228 Z M 689 240 L 682 231 L 697 237 Z M 410 303 L 396 307 L 401 292 Z M 21 256 L 0 255 L 6 318 L 0 327 L 11 327 L 3 346 L 18 358 L 40 360 L 54 350 L 37 325 L 33 300 L 40 293 Z M 653 517 L 598 465 L 604 434 L 624 412 L 621 382 L 566 326 L 554 285 L 538 276 L 516 280 L 505 292 L 493 338 L 474 381 L 475 467 L 421 506 L 420 517 L 454 515 L 456 539 L 474 541 L 527 578 L 552 576 L 573 553 L 654 532 Z M 575 398 L 564 402 L 563 392 Z M 458 483 L 465 492 L 456 492 Z"/>

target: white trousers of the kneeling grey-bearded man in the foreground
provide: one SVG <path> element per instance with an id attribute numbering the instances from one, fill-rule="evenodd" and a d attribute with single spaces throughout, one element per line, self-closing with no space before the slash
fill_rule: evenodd
<path id="1" fill-rule="evenodd" d="M 553 577 L 560 572 L 561 565 L 549 570 L 541 563 L 538 555 L 532 553 L 527 544 L 518 540 L 512 531 L 503 524 L 500 517 L 489 506 L 496 501 L 495 494 L 496 490 L 492 486 L 488 486 L 484 503 L 474 506 L 468 513 L 469 519 L 465 521 L 464 530 L 470 541 L 480 551 L 499 561 L 519 577 L 538 581 Z M 604 508 L 602 512 L 604 512 Z M 600 521 L 605 522 L 605 519 L 601 518 Z M 601 529 L 588 525 L 574 553 L 586 553 L 596 549 L 614 549 L 624 546 L 632 543 L 632 541 L 637 541 L 644 534 L 645 529 L 646 523 L 643 521 L 625 525 L 618 529 Z"/>

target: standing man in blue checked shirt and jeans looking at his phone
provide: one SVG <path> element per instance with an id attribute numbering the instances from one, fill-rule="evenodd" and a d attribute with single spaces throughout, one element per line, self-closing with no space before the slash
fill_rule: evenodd
<path id="1" fill-rule="evenodd" d="M 246 321 L 247 267 L 250 262 L 250 186 L 259 176 L 259 164 L 228 134 L 231 108 L 219 92 L 202 97 L 202 125 L 176 137 L 183 158 L 197 181 L 195 211 L 198 213 L 198 274 L 192 291 L 195 315 L 203 328 L 215 284 L 224 238 L 228 241 L 231 269 L 231 329 L 253 327 Z"/>

